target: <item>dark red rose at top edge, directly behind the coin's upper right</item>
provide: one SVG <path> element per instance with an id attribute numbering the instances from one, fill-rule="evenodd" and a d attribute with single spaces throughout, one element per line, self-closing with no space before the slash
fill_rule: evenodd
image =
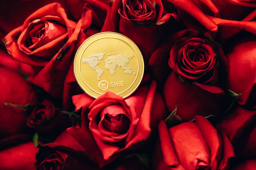
<path id="1" fill-rule="evenodd" d="M 110 3 L 101 32 L 119 32 L 134 41 L 147 70 L 150 55 L 157 45 L 177 29 L 175 19 L 177 15 L 166 12 L 160 0 L 116 0 Z"/>

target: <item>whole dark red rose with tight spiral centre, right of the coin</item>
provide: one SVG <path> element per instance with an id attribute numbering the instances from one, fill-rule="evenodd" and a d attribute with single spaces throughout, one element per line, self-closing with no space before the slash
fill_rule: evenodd
<path id="1" fill-rule="evenodd" d="M 223 51 L 213 42 L 200 38 L 181 38 L 170 51 L 173 69 L 164 85 L 170 112 L 177 104 L 177 115 L 184 121 L 195 115 L 218 115 L 225 111 L 229 64 Z"/>

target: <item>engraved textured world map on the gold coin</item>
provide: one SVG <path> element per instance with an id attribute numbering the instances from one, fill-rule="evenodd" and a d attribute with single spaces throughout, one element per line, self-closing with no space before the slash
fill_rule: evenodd
<path id="1" fill-rule="evenodd" d="M 111 56 L 111 54 L 108 54 L 108 59 L 104 59 L 103 53 L 100 54 L 93 54 L 88 57 L 88 59 L 82 59 L 82 64 L 88 63 L 89 66 L 96 71 L 97 80 L 100 80 L 100 76 L 103 74 L 103 70 L 100 69 L 97 65 L 100 64 L 101 60 L 105 60 L 105 69 L 110 71 L 110 74 L 113 75 L 116 73 L 116 67 L 122 68 L 126 74 L 132 74 L 135 75 L 136 73 L 132 68 L 127 67 L 127 64 L 131 60 L 131 58 L 134 57 L 134 55 L 129 54 L 123 54 L 120 52 L 120 54 L 112 53 L 114 56 Z"/>

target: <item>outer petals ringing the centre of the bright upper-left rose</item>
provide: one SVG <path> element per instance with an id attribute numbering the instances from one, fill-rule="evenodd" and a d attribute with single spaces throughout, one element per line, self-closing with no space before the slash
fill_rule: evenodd
<path id="1" fill-rule="evenodd" d="M 76 26 L 76 23 L 74 23 L 71 20 L 67 19 L 67 15 L 65 13 L 65 10 L 61 7 L 60 4 L 58 3 L 53 3 L 53 4 L 49 4 L 46 5 L 40 9 L 38 9 L 36 12 L 34 12 L 33 14 L 31 14 L 25 21 L 24 24 L 16 29 L 14 29 L 13 31 L 9 32 L 8 35 L 4 38 L 5 41 L 5 45 L 7 48 L 7 51 L 9 51 L 9 53 L 13 56 L 14 59 L 27 63 L 27 64 L 32 64 L 32 65 L 39 65 L 39 66 L 44 66 L 46 65 L 48 62 L 47 61 L 42 61 L 41 59 L 37 59 L 37 58 L 31 58 L 29 55 L 25 54 L 23 51 L 21 51 L 22 49 L 20 49 L 20 45 L 19 44 L 19 37 L 23 37 L 26 36 L 24 35 L 24 30 L 27 29 L 28 25 L 36 20 L 36 19 L 40 19 L 44 16 L 47 15 L 51 15 L 51 16 L 57 16 L 59 18 L 61 18 L 61 22 L 63 24 L 65 24 L 66 28 L 67 28 L 67 34 L 68 37 L 70 37 L 72 35 L 72 30 L 74 29 L 74 27 Z M 57 19 L 58 21 L 58 19 Z M 62 24 L 61 23 L 61 24 Z M 22 33 L 23 32 L 23 33 Z M 56 42 L 55 42 L 56 41 Z M 20 42 L 22 43 L 22 42 Z M 42 49 L 38 50 L 38 52 L 43 52 L 46 51 L 44 54 L 42 55 L 55 55 L 55 54 L 51 54 L 48 51 L 56 51 L 58 52 L 58 50 L 64 45 L 65 42 L 57 42 L 57 39 L 54 41 L 49 42 L 48 44 L 46 44 L 44 47 L 40 47 Z M 61 45 L 62 44 L 62 45 Z M 59 46 L 60 45 L 60 46 Z M 52 46 L 57 46 L 55 48 L 52 48 Z M 35 52 L 35 53 L 38 53 Z M 33 53 L 33 52 L 31 52 Z M 40 55 L 40 54 L 39 54 Z M 52 56 L 52 57 L 53 57 Z"/>

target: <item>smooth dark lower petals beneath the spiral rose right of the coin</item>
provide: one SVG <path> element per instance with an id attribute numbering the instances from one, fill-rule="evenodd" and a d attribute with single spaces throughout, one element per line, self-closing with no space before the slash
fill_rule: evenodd
<path id="1" fill-rule="evenodd" d="M 190 121 L 196 115 L 221 114 L 225 109 L 223 94 L 213 94 L 195 84 L 185 84 L 174 71 L 165 82 L 164 98 L 170 112 L 175 109 L 175 103 L 177 104 L 176 114 L 183 121 Z"/>

